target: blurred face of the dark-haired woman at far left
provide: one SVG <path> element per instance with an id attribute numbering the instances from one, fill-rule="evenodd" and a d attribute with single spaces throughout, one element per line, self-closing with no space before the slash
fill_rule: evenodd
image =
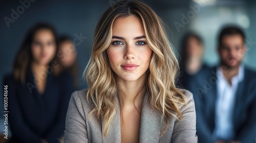
<path id="1" fill-rule="evenodd" d="M 33 60 L 41 65 L 47 65 L 54 58 L 56 52 L 55 38 L 51 30 L 38 30 L 31 44 Z"/>

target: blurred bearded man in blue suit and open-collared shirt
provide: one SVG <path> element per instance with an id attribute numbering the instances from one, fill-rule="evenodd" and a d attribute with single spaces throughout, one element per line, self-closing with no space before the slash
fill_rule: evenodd
<path id="1" fill-rule="evenodd" d="M 219 35 L 220 64 L 195 81 L 194 93 L 199 142 L 255 142 L 256 73 L 242 60 L 245 35 L 235 26 Z"/>

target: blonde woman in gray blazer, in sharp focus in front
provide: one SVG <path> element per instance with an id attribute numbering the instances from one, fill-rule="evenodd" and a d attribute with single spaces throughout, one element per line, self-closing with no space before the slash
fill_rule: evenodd
<path id="1" fill-rule="evenodd" d="M 197 142 L 193 95 L 175 87 L 177 71 L 156 13 L 116 3 L 96 27 L 89 88 L 72 94 L 64 142 Z"/>

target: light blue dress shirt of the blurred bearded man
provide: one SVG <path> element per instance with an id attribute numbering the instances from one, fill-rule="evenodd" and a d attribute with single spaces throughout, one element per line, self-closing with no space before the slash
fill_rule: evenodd
<path id="1" fill-rule="evenodd" d="M 232 77 L 231 85 L 225 79 L 221 67 L 217 67 L 217 100 L 215 111 L 215 130 L 216 139 L 230 140 L 234 138 L 233 129 L 233 108 L 236 99 L 236 92 L 239 82 L 244 79 L 244 66 L 239 66 L 238 75 Z"/>

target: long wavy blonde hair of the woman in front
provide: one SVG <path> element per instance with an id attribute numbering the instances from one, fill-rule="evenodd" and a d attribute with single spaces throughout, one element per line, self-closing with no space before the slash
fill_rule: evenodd
<path id="1" fill-rule="evenodd" d="M 162 136 L 171 117 L 182 120 L 179 105 L 186 104 L 185 96 L 175 86 L 179 70 L 174 47 L 168 41 L 163 22 L 146 4 L 139 1 L 121 1 L 110 7 L 102 15 L 95 30 L 92 55 L 83 77 L 88 83 L 87 100 L 93 102 L 94 114 L 103 123 L 103 135 L 116 113 L 115 96 L 117 82 L 111 69 L 106 50 L 111 44 L 113 22 L 118 17 L 137 16 L 143 25 L 148 45 L 152 49 L 152 58 L 146 79 L 146 92 L 151 107 L 161 113 L 166 121 Z"/>

